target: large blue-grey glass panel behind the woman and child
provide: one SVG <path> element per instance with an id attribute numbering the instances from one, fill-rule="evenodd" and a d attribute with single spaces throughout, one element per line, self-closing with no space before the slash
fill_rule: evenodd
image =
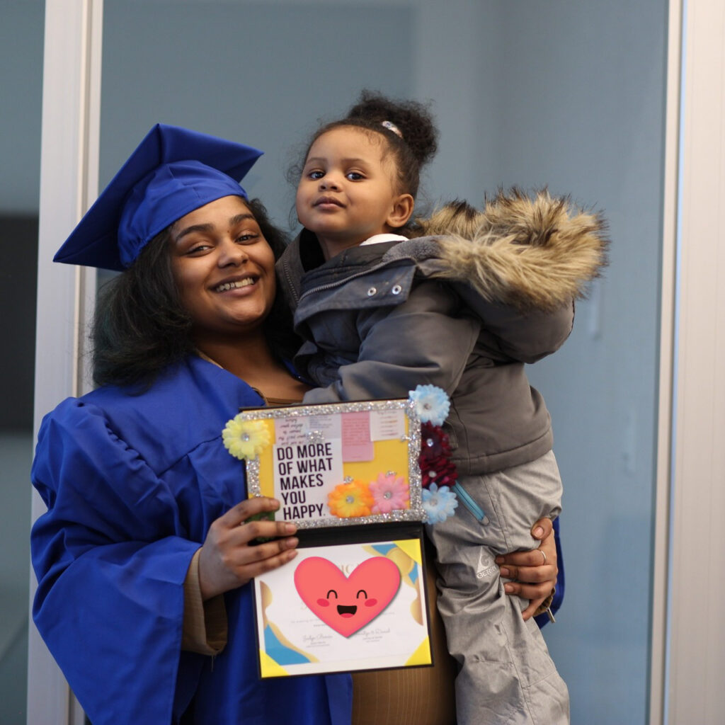
<path id="1" fill-rule="evenodd" d="M 286 225 L 289 161 L 368 87 L 435 99 L 429 199 L 548 184 L 604 211 L 605 280 L 531 368 L 565 484 L 567 593 L 544 635 L 574 722 L 645 721 L 666 1 L 171 7 L 105 2 L 101 185 L 152 124 L 186 125 L 265 149 L 244 185 Z"/>

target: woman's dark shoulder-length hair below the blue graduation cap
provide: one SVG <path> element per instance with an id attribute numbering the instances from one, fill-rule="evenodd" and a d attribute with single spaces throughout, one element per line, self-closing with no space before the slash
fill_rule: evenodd
<path id="1" fill-rule="evenodd" d="M 278 259 L 286 236 L 259 199 L 245 202 Z M 99 292 L 91 341 L 98 385 L 148 386 L 169 365 L 194 351 L 191 317 L 181 305 L 171 266 L 170 228 L 149 241 L 133 264 Z M 280 357 L 297 350 L 291 313 L 282 295 L 265 320 L 270 347 Z"/>

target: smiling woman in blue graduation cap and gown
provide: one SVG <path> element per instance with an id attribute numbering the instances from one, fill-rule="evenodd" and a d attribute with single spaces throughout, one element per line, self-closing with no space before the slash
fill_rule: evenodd
<path id="1" fill-rule="evenodd" d="M 273 336 L 278 238 L 234 181 L 259 155 L 157 125 L 56 255 L 125 270 L 97 310 L 101 387 L 46 416 L 33 463 L 33 618 L 94 725 L 350 720 L 349 676 L 257 678 L 249 580 L 297 539 L 253 520 L 278 504 L 247 500 L 220 432 L 307 389 Z"/>

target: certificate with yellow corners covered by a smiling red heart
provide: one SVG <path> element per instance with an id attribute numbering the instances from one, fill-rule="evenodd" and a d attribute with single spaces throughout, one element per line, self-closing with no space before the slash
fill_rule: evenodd
<path id="1" fill-rule="evenodd" d="M 262 678 L 432 663 L 422 526 L 386 528 L 396 535 L 301 539 L 294 560 L 255 577 Z"/>

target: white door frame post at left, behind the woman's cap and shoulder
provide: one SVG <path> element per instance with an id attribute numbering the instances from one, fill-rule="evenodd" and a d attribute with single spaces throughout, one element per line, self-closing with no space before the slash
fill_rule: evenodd
<path id="1" fill-rule="evenodd" d="M 102 0 L 48 0 L 43 51 L 38 318 L 33 436 L 42 416 L 86 392 L 95 270 L 51 262 L 98 193 Z M 32 518 L 45 510 L 33 492 Z M 30 575 L 30 606 L 36 580 Z M 38 631 L 28 628 L 28 725 L 81 725 L 83 711 Z"/>

